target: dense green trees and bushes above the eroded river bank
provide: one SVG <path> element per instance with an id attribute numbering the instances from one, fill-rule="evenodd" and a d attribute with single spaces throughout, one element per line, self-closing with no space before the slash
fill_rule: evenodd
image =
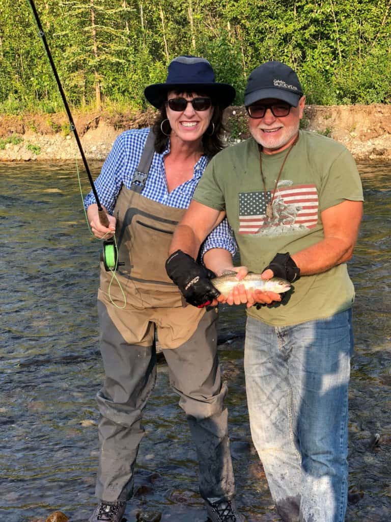
<path id="1" fill-rule="evenodd" d="M 179 54 L 208 58 L 242 102 L 267 60 L 299 73 L 310 103 L 391 101 L 391 0 L 36 0 L 69 101 L 142 108 Z M 0 111 L 62 108 L 28 0 L 0 5 Z"/>

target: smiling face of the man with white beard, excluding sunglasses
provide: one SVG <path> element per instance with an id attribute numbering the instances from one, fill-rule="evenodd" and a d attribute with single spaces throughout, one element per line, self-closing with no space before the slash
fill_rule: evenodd
<path id="1" fill-rule="evenodd" d="M 259 101 L 267 105 L 278 103 L 279 100 L 267 98 Z M 249 118 L 249 131 L 255 141 L 262 145 L 265 154 L 281 152 L 295 141 L 305 103 L 306 97 L 302 96 L 298 106 L 291 107 L 287 116 L 276 117 L 267 109 L 263 118 Z"/>

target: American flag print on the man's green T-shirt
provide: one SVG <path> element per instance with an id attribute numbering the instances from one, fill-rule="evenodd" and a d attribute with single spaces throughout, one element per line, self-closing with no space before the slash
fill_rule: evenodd
<path id="1" fill-rule="evenodd" d="M 279 235 L 311 229 L 317 224 L 316 186 L 280 181 L 273 197 L 273 217 L 266 216 L 271 191 L 239 193 L 239 234 Z"/>

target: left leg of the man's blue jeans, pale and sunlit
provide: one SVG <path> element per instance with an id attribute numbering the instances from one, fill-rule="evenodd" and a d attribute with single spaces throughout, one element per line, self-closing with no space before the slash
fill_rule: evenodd
<path id="1" fill-rule="evenodd" d="M 248 317 L 245 341 L 246 394 L 251 437 L 284 522 L 298 522 L 301 454 L 292 418 L 287 355 L 277 328 Z"/>

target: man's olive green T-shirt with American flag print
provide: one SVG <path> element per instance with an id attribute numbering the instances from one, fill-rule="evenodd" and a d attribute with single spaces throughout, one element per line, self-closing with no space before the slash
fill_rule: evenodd
<path id="1" fill-rule="evenodd" d="M 346 199 L 363 200 L 355 160 L 337 141 L 300 131 L 275 189 L 286 153 L 287 149 L 262 153 L 264 187 L 256 141 L 249 138 L 228 147 L 209 163 L 193 196 L 203 205 L 226 211 L 241 263 L 252 272 L 262 272 L 277 253 L 293 255 L 321 241 L 323 210 Z M 273 217 L 267 217 L 271 197 Z M 347 310 L 354 295 L 344 263 L 322 274 L 302 276 L 286 304 L 260 310 L 253 306 L 248 314 L 270 325 L 288 326 Z"/>

